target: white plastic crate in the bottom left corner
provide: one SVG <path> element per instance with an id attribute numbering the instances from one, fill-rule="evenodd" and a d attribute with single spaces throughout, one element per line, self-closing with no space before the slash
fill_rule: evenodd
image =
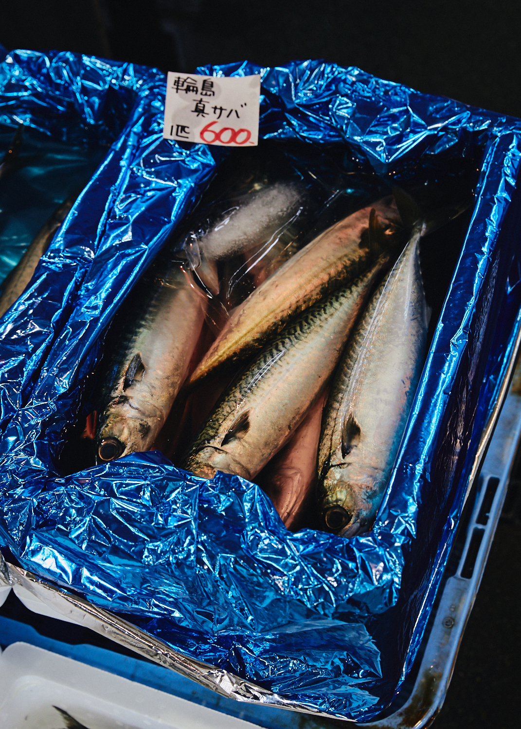
<path id="1" fill-rule="evenodd" d="M 1 729 L 255 729 L 215 709 L 27 643 L 0 655 Z"/>

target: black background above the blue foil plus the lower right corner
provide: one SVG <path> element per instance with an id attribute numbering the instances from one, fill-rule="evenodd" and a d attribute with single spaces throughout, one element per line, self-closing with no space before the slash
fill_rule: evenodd
<path id="1" fill-rule="evenodd" d="M 72 50 L 163 71 L 324 58 L 517 117 L 520 36 L 521 0 L 0 0 L 7 50 Z M 519 512 L 517 499 L 498 526 L 437 729 L 520 725 Z"/>

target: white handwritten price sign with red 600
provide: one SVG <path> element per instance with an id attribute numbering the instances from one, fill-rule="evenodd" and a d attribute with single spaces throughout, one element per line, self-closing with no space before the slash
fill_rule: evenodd
<path id="1" fill-rule="evenodd" d="M 163 137 L 223 147 L 258 144 L 261 77 L 176 74 L 166 81 Z"/>

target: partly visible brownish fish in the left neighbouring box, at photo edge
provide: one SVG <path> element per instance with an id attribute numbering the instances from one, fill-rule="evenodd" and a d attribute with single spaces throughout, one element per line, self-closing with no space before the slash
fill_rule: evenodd
<path id="1" fill-rule="evenodd" d="M 36 266 L 39 264 L 39 260 L 47 251 L 50 241 L 53 240 L 54 234 L 67 217 L 67 214 L 69 214 L 69 210 L 72 208 L 74 200 L 76 200 L 78 195 L 79 191 L 74 192 L 61 203 L 61 206 L 54 211 L 47 222 L 45 222 L 45 225 L 36 233 L 31 245 L 20 258 L 17 265 L 15 265 L 15 268 L 9 273 L 9 276 L 7 276 L 0 297 L 0 316 L 4 316 L 7 309 L 11 308 L 26 290 L 36 270 Z"/>

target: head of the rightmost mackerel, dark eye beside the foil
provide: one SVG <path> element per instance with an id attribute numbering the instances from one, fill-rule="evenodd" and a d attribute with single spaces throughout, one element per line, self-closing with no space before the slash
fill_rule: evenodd
<path id="1" fill-rule="evenodd" d="M 368 531 L 382 499 L 381 479 L 370 473 L 352 474 L 346 478 L 339 464 L 328 469 L 322 481 L 323 498 L 320 512 L 327 531 L 340 537 L 355 537 Z"/>

